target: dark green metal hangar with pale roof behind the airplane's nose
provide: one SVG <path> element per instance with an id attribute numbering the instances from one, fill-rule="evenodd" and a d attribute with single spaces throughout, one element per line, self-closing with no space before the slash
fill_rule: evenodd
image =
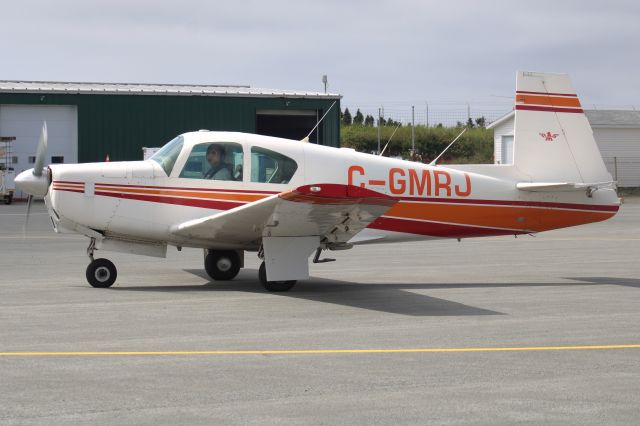
<path id="1" fill-rule="evenodd" d="M 16 173 L 33 167 L 42 123 L 48 163 L 140 160 L 143 147 L 208 129 L 339 145 L 340 95 L 249 86 L 0 81 L 0 136 Z"/>

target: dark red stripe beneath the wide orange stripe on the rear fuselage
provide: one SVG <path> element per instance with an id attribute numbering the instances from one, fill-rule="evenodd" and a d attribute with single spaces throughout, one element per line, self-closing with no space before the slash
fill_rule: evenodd
<path id="1" fill-rule="evenodd" d="M 452 225 L 434 222 L 419 222 L 408 219 L 379 217 L 369 226 L 382 231 L 405 232 L 407 234 L 426 235 L 430 237 L 469 238 L 489 237 L 497 235 L 527 234 L 526 231 L 510 231 L 506 229 L 476 228 L 465 225 Z"/>

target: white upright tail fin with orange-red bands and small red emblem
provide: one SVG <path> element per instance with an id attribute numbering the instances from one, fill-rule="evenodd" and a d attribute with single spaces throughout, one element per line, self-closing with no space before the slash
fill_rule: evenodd
<path id="1" fill-rule="evenodd" d="M 612 180 L 566 74 L 518 72 L 513 154 L 533 182 Z"/>

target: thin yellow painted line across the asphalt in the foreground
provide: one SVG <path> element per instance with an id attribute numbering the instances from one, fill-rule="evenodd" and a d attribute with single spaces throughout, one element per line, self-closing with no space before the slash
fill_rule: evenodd
<path id="1" fill-rule="evenodd" d="M 640 344 L 590 346 L 529 346 L 511 348 L 407 348 L 407 349 L 292 349 L 245 351 L 87 351 L 87 352 L 0 352 L 0 357 L 38 356 L 132 356 L 132 355 L 327 355 L 327 354 L 404 354 L 404 353 L 460 353 L 460 352 L 531 352 L 575 351 L 598 349 L 640 349 Z"/>

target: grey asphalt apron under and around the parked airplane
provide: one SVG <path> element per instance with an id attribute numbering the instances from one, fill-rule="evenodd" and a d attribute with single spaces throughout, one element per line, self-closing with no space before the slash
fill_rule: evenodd
<path id="1" fill-rule="evenodd" d="M 291 292 L 258 259 L 99 253 L 0 205 L 0 424 L 637 424 L 640 199 L 535 237 L 331 253 Z M 19 354 L 18 354 L 19 353 Z"/>

